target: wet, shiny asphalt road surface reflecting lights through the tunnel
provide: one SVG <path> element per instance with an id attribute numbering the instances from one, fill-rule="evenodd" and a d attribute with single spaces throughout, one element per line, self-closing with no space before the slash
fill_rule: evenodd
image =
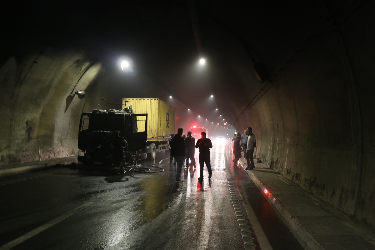
<path id="1" fill-rule="evenodd" d="M 226 171 L 257 249 L 302 249 L 246 172 L 231 167 L 230 142 L 214 144 L 213 176 L 205 168 L 202 184 L 198 152 L 180 184 L 167 157 L 157 154 L 164 171 L 154 174 L 71 165 L 2 178 L 1 249 L 30 232 L 11 249 L 244 249 Z"/>

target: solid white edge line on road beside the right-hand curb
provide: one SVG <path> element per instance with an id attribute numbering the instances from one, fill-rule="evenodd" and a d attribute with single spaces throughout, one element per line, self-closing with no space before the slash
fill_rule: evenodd
<path id="1" fill-rule="evenodd" d="M 239 163 L 242 166 L 240 161 Z M 245 169 L 243 166 L 242 168 Z M 255 235 L 257 235 L 260 248 L 262 250 L 272 250 L 271 244 L 267 240 L 267 236 L 264 233 L 262 226 L 260 225 L 257 216 L 255 215 L 255 212 L 249 203 L 248 196 L 245 193 L 242 193 L 241 191 L 243 191 L 243 189 L 239 189 L 240 195 L 242 196 L 242 203 L 246 209 L 246 212 L 248 213 L 250 223 L 254 229 L 254 233 Z"/>

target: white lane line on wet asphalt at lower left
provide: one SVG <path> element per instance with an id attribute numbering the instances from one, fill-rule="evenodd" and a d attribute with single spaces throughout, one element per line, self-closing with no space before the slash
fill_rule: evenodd
<path id="1" fill-rule="evenodd" d="M 93 203 L 94 202 L 86 202 L 85 204 L 83 204 L 83 205 L 81 205 L 77 208 L 74 208 L 73 210 L 69 211 L 68 213 L 65 213 L 62 216 L 59 216 L 56 219 L 53 219 L 50 222 L 47 222 L 44 225 L 39 226 L 38 228 L 18 237 L 17 239 L 8 242 L 7 244 L 1 246 L 0 250 L 8 250 L 8 249 L 11 249 L 12 247 L 17 246 L 18 244 L 23 243 L 24 241 L 26 241 L 26 240 L 30 239 L 31 237 L 39 234 L 40 232 L 42 232 L 45 229 L 55 225 L 56 223 L 61 222 L 62 220 L 64 220 L 64 219 L 68 218 L 69 216 L 77 213 L 78 211 L 84 209 L 85 207 L 90 206 Z"/>

